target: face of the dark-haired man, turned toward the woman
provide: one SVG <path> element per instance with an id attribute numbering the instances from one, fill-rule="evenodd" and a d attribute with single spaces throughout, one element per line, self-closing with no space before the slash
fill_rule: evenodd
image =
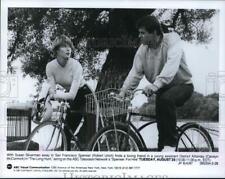
<path id="1" fill-rule="evenodd" d="M 143 45 L 148 45 L 150 48 L 154 47 L 156 43 L 156 32 L 149 33 L 144 27 L 138 29 L 139 31 L 139 38 Z"/>

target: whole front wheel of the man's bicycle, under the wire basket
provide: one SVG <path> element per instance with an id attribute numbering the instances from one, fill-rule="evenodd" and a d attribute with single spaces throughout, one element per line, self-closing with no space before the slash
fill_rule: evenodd
<path id="1" fill-rule="evenodd" d="M 142 151 L 137 135 L 125 124 L 110 125 L 99 130 L 88 146 L 89 151 Z"/>

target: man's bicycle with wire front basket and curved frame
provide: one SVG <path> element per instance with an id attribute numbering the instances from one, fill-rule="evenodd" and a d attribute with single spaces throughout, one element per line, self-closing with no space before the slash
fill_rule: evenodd
<path id="1" fill-rule="evenodd" d="M 109 125 L 101 128 L 95 136 L 91 139 L 88 150 L 90 151 L 148 151 L 147 146 L 141 136 L 141 131 L 154 123 L 152 120 L 136 128 L 132 124 L 132 116 L 140 116 L 133 111 L 131 99 L 133 99 L 137 91 L 130 93 L 124 99 L 118 99 L 117 93 L 119 90 L 113 89 L 98 92 L 98 102 L 100 117 L 105 116 L 111 120 Z M 108 95 L 106 93 L 108 92 Z M 103 96 L 103 97 L 102 97 Z M 101 98 L 102 97 L 102 98 Z M 89 106 L 87 106 L 89 107 Z M 118 110 L 119 109 L 119 110 Z M 91 111 L 90 111 L 91 112 Z M 117 121 L 116 116 L 125 115 L 125 119 Z M 178 142 L 176 151 L 179 152 L 212 152 L 214 150 L 213 141 L 204 127 L 201 125 L 188 122 L 181 127 L 177 126 Z"/>

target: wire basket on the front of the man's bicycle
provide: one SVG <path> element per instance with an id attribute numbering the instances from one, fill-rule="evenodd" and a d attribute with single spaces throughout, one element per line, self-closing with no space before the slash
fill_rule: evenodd
<path id="1" fill-rule="evenodd" d="M 99 105 L 99 113 L 103 117 L 113 117 L 127 113 L 128 105 L 130 101 L 120 101 L 115 99 L 111 94 L 118 94 L 120 90 L 110 88 L 102 91 L 95 92 L 93 94 L 86 95 L 86 113 L 96 114 L 97 106 L 95 99 L 97 99 Z"/>

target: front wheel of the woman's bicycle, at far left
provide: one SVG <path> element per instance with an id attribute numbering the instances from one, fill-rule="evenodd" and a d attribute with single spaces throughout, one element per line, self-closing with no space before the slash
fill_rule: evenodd
<path id="1" fill-rule="evenodd" d="M 67 149 L 66 136 L 62 127 L 53 121 L 38 125 L 29 135 L 25 150 L 64 151 Z"/>

